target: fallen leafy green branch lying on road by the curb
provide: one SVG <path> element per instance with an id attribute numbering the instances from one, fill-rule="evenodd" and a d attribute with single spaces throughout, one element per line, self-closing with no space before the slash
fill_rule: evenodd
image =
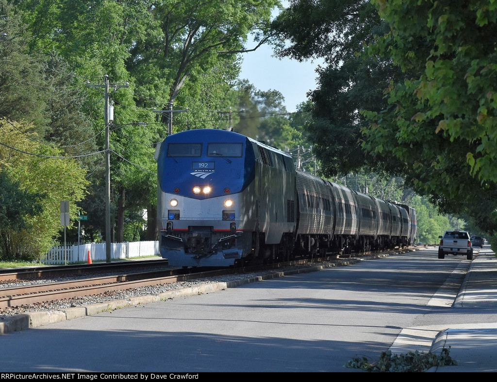
<path id="1" fill-rule="evenodd" d="M 409 352 L 407 354 L 392 354 L 390 350 L 382 352 L 376 363 L 371 363 L 366 357 L 355 357 L 344 367 L 362 369 L 367 372 L 390 373 L 422 373 L 433 366 L 457 365 L 457 361 L 449 355 L 449 348 L 443 348 L 441 354 Z"/>

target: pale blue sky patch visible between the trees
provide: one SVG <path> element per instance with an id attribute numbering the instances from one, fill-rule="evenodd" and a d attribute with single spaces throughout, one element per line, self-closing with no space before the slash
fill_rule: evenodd
<path id="1" fill-rule="evenodd" d="M 282 3 L 283 6 L 289 5 L 288 1 Z M 273 17 L 276 14 L 273 12 Z M 246 44 L 250 49 L 255 46 L 256 43 L 250 40 Z M 260 46 L 255 52 L 243 53 L 240 78 L 247 79 L 257 90 L 278 90 L 285 98 L 286 109 L 295 112 L 298 104 L 307 101 L 306 93 L 316 89 L 315 69 L 324 61 L 299 63 L 287 58 L 279 60 L 272 55 L 272 48 L 267 45 Z"/>

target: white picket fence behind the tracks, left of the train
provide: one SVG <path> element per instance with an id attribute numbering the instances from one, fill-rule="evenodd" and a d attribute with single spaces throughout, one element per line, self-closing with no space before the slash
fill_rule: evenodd
<path id="1" fill-rule="evenodd" d="M 87 262 L 88 251 L 90 252 L 91 261 L 105 261 L 107 259 L 105 246 L 105 243 L 80 244 L 79 246 L 78 243 L 66 243 L 65 250 L 64 245 L 52 247 L 45 254 L 45 257 L 41 258 L 41 262 L 44 264 Z M 158 241 L 110 244 L 111 259 L 118 260 L 151 255 L 160 256 Z"/>

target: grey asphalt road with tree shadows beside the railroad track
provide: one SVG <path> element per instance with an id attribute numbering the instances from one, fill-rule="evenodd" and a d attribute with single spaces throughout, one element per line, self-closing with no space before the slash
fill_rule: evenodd
<path id="1" fill-rule="evenodd" d="M 427 249 L 8 333 L 0 372 L 363 372 L 344 365 L 403 328 L 495 321 L 447 303 L 467 261 Z"/>

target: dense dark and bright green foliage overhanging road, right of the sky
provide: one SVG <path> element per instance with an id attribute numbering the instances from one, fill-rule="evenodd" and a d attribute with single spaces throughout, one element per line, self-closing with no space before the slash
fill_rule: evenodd
<path id="1" fill-rule="evenodd" d="M 306 125 L 322 174 L 402 177 L 493 235 L 496 20 L 486 0 L 293 1 L 273 24 L 280 55 L 328 64 Z"/>

